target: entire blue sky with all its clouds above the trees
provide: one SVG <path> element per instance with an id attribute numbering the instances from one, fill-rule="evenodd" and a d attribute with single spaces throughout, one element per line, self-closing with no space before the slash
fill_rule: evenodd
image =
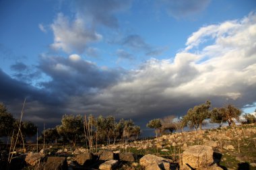
<path id="1" fill-rule="evenodd" d="M 0 1 L 0 101 L 15 118 L 256 108 L 255 0 Z"/>

